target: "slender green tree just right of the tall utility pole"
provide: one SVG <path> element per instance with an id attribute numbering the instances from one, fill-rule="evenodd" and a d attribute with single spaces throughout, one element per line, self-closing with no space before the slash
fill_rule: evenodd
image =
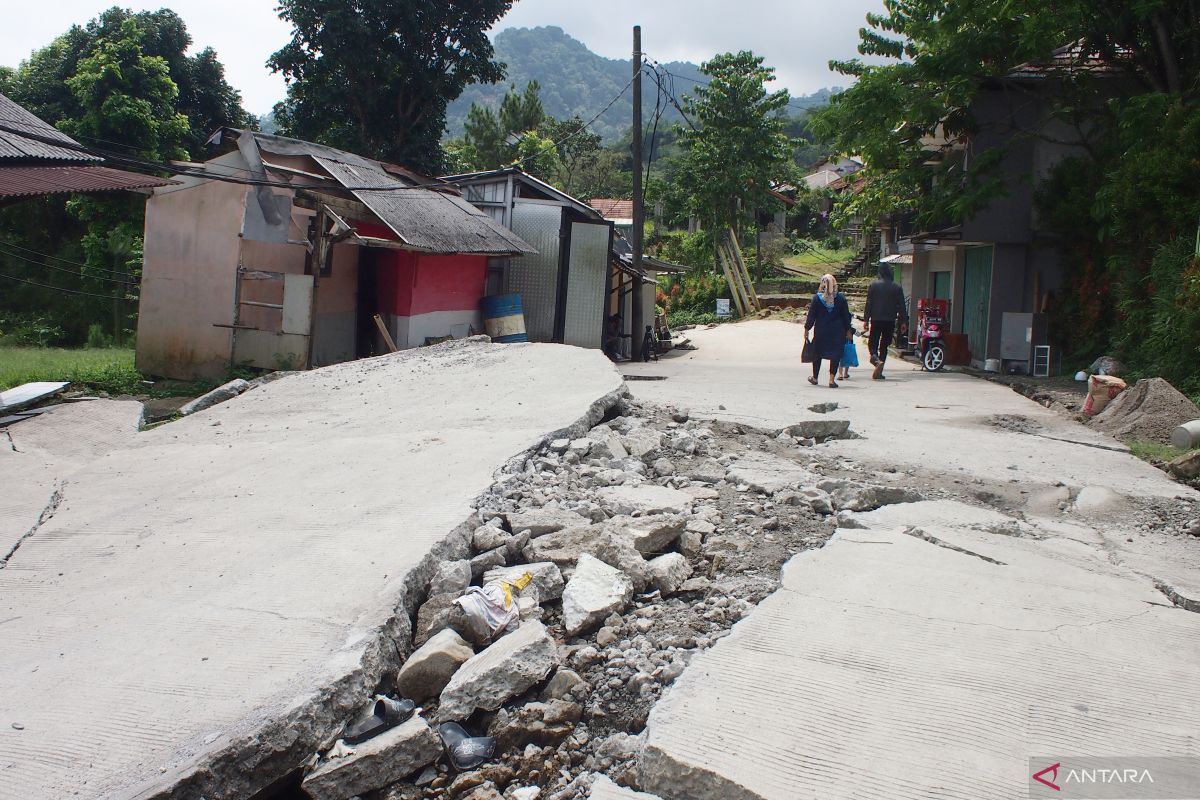
<path id="1" fill-rule="evenodd" d="M 774 70 L 749 52 L 726 53 L 701 65 L 709 77 L 684 98 L 695 128 L 684 128 L 678 179 L 692 213 L 738 229 L 758 210 L 773 207 L 768 194 L 791 161 L 784 133 L 787 91 L 768 92 Z"/>

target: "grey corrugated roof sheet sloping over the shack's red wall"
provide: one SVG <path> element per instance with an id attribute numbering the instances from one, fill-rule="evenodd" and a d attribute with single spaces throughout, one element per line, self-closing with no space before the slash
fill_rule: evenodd
<path id="1" fill-rule="evenodd" d="M 480 255 L 536 252 L 457 194 L 415 187 L 362 158 L 348 163 L 324 154 L 312 157 L 413 249 Z M 365 188 L 374 186 L 379 190 Z"/>

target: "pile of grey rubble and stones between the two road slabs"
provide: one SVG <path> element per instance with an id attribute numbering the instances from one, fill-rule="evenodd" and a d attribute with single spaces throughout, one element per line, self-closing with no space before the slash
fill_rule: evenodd
<path id="1" fill-rule="evenodd" d="M 478 499 L 470 558 L 433 575 L 416 649 L 380 687 L 422 704 L 415 722 L 382 746 L 336 744 L 305 780 L 314 796 L 568 800 L 601 775 L 636 788 L 654 702 L 782 564 L 821 546 L 839 511 L 922 499 L 826 465 L 818 445 L 852 437 L 845 421 L 767 433 L 678 409 L 611 414 L 514 461 Z M 487 758 L 455 769 L 448 726 Z M 354 766 L 380 747 L 404 776 Z M 338 789 L 337 772 L 353 780 Z"/>

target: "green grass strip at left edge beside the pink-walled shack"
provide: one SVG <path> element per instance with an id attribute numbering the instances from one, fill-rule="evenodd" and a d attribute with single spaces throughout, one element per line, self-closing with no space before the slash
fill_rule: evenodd
<path id="1" fill-rule="evenodd" d="M 149 389 L 133 367 L 133 350 L 0 347 L 0 391 L 37 380 L 68 380 L 109 395 L 144 395 Z"/>

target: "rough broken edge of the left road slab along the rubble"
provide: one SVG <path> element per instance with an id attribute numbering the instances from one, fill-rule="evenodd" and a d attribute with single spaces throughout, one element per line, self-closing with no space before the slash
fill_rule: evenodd
<path id="1" fill-rule="evenodd" d="M 510 458 L 497 475 L 518 471 L 546 441 L 582 435 L 628 397 L 629 389 L 622 384 L 594 401 L 575 422 L 540 437 Z M 302 766 L 314 752 L 331 746 L 362 699 L 373 696 L 403 666 L 413 650 L 413 620 L 425 601 L 430 579 L 443 561 L 470 557 L 470 537 L 479 524 L 475 515 L 464 519 L 404 577 L 394 613 L 364 642 L 358 668 L 350 674 L 292 703 L 289 710 L 251 732 L 218 739 L 208 747 L 209 754 L 197 753 L 192 763 L 118 796 L 127 800 L 247 798 Z"/>

